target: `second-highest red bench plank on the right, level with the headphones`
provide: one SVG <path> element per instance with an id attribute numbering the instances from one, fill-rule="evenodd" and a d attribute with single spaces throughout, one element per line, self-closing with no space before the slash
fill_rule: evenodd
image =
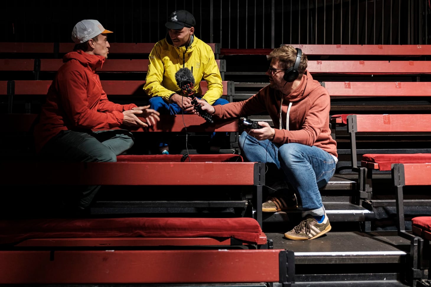
<path id="1" fill-rule="evenodd" d="M 431 74 L 428 61 L 308 61 L 311 73 L 359 75 Z"/>

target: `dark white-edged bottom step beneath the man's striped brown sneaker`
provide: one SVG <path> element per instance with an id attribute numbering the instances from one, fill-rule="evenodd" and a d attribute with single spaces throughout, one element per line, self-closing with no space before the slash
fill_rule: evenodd
<path id="1" fill-rule="evenodd" d="M 335 230 L 333 228 L 333 230 Z M 285 231 L 284 231 L 285 232 Z M 325 269 L 325 264 L 365 264 L 363 270 L 369 269 L 367 265 L 403 262 L 407 255 L 410 241 L 399 237 L 393 231 L 381 232 L 356 232 L 356 231 L 329 231 L 327 234 L 315 240 L 288 240 L 284 233 L 265 233 L 273 240 L 274 248 L 287 248 L 294 251 L 295 263 L 316 264 Z M 362 265 L 361 265 L 362 266 Z M 374 266 L 375 268 L 376 266 Z M 334 266 L 327 266 L 332 269 Z M 341 266 L 337 270 L 342 272 L 345 268 L 349 273 L 348 266 Z M 301 274 L 298 269 L 296 274 Z M 319 274 L 325 274 L 321 270 Z M 332 270 L 332 272 L 337 273 Z M 358 271 L 359 272 L 359 271 Z M 381 268 L 384 273 L 384 268 Z M 347 274 L 346 279 L 348 278 Z M 389 278 L 388 278 L 389 279 Z M 370 278 L 371 280 L 371 278 Z M 349 285 L 350 286 L 350 285 Z"/>

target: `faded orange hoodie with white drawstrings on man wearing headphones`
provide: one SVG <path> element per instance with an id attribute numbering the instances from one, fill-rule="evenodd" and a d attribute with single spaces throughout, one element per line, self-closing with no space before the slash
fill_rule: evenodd
<path id="1" fill-rule="evenodd" d="M 337 142 L 331 137 L 329 128 L 329 93 L 318 81 L 313 80 L 308 71 L 289 95 L 284 95 L 268 85 L 247 100 L 217 105 L 214 108 L 215 117 L 221 119 L 268 112 L 275 127 L 273 142 L 316 146 L 337 157 Z"/>

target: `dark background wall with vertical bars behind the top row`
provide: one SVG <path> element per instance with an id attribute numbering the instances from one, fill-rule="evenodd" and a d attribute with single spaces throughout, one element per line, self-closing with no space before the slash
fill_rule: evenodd
<path id="1" fill-rule="evenodd" d="M 280 44 L 431 44 L 429 0 L 7 1 L 1 42 L 71 42 L 73 26 L 97 19 L 111 42 L 156 42 L 176 9 L 192 12 L 196 34 L 222 48 Z"/>

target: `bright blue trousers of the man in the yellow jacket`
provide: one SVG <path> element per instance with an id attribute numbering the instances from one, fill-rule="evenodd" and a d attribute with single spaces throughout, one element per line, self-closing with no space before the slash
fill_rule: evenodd
<path id="1" fill-rule="evenodd" d="M 201 99 L 196 97 L 197 99 Z M 150 108 L 151 109 L 155 109 L 156 111 L 158 111 L 160 114 L 164 114 L 164 115 L 180 115 L 183 113 L 183 109 L 181 109 L 180 106 L 178 106 L 176 103 L 166 103 L 162 97 L 151 97 L 149 100 L 150 103 Z M 228 100 L 219 98 L 217 99 L 212 106 L 216 106 L 216 105 L 224 105 L 229 103 Z M 210 141 L 214 142 L 214 145 L 219 145 L 222 141 L 222 138 L 226 136 L 227 133 L 212 133 L 209 135 L 210 137 Z M 167 145 L 169 145 L 169 140 L 167 139 L 163 139 L 162 143 L 159 143 L 159 147 L 166 147 Z"/>

